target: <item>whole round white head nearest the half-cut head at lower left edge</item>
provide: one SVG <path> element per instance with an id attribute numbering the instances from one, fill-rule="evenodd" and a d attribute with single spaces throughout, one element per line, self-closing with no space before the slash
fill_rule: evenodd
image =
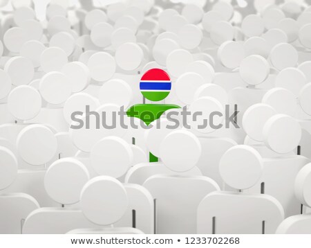
<path id="1" fill-rule="evenodd" d="M 17 136 L 17 150 L 23 161 L 33 166 L 41 166 L 53 159 L 57 150 L 57 139 L 45 125 L 29 125 Z"/>

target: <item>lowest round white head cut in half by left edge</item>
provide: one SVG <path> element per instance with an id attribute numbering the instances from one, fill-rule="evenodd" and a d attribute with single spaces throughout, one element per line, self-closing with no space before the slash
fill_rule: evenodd
<path id="1" fill-rule="evenodd" d="M 15 154 L 0 146 L 0 190 L 8 188 L 17 177 L 17 158 Z"/>

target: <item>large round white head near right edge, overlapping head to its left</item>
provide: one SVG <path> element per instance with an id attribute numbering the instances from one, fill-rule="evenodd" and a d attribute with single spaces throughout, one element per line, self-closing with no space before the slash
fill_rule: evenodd
<path id="1" fill-rule="evenodd" d="M 294 118 L 276 114 L 263 127 L 265 145 L 274 152 L 288 153 L 294 150 L 301 139 L 301 126 Z"/>

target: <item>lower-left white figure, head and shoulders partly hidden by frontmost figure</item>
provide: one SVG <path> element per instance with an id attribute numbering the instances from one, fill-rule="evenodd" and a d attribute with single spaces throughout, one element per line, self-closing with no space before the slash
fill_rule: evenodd
<path id="1" fill-rule="evenodd" d="M 23 225 L 23 233 L 62 234 L 77 227 L 94 227 L 84 218 L 79 207 L 73 205 L 79 202 L 80 192 L 88 179 L 88 170 L 77 159 L 55 161 L 46 172 L 44 187 L 59 207 L 40 208 L 30 213 Z"/>

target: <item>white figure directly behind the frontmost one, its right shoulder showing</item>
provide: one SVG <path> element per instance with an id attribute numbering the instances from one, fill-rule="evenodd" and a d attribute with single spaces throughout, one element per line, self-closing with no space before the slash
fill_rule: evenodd
<path id="1" fill-rule="evenodd" d="M 90 153 L 91 168 L 96 175 L 109 176 L 124 181 L 124 175 L 137 159 L 135 149 L 123 139 L 108 136 L 98 141 Z M 128 197 L 128 207 L 115 227 L 136 227 L 144 233 L 153 233 L 153 200 L 146 188 L 137 184 L 123 184 Z"/>

